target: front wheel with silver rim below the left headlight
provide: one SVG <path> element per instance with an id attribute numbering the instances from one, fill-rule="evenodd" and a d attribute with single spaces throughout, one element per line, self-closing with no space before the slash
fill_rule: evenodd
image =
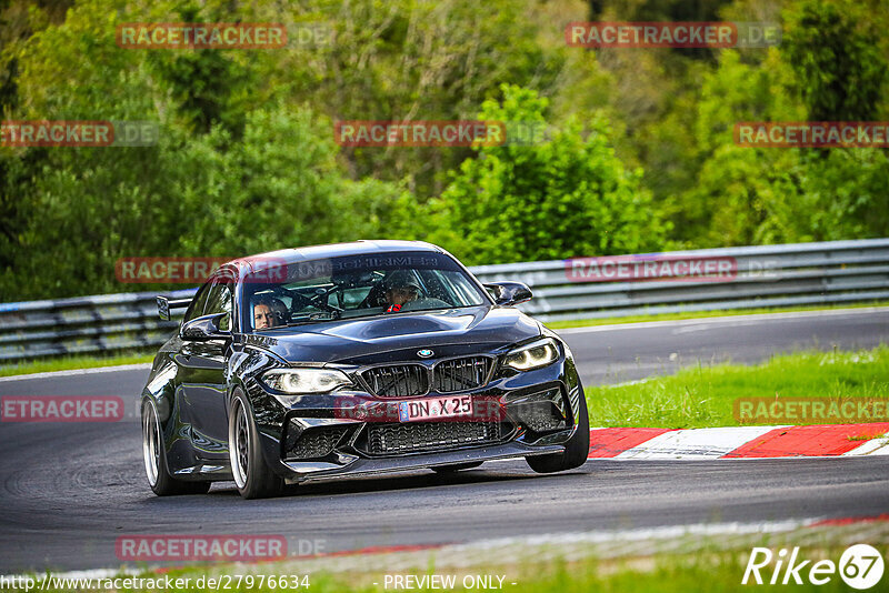
<path id="1" fill-rule="evenodd" d="M 234 485 L 242 497 L 268 499 L 283 492 L 284 481 L 262 458 L 250 402 L 241 391 L 234 392 L 229 410 L 229 461 Z"/>

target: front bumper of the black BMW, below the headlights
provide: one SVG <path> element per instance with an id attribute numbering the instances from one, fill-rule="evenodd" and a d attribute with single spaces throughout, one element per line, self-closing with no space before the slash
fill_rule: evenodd
<path id="1" fill-rule="evenodd" d="M 573 361 L 565 355 L 546 368 L 496 376 L 483 388 L 461 392 L 477 408 L 483 402 L 487 410 L 499 410 L 495 419 L 471 422 L 401 423 L 392 418 L 396 402 L 450 396 L 434 392 L 391 399 L 340 391 L 290 398 L 287 405 L 259 382 L 248 393 L 266 461 L 288 483 L 561 453 L 578 423 L 582 396 Z M 343 401 L 362 413 L 343 413 Z M 550 416 L 541 413 L 547 410 Z"/>

